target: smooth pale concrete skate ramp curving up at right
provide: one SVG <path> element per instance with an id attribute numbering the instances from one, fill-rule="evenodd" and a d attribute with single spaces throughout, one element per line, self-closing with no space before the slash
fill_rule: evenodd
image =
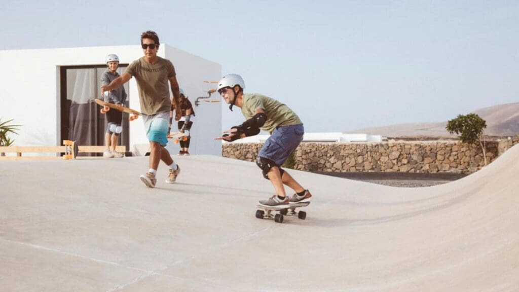
<path id="1" fill-rule="evenodd" d="M 0 163 L 3 291 L 517 291 L 519 148 L 474 175 L 403 189 L 291 171 L 307 219 L 256 219 L 254 163 Z"/>

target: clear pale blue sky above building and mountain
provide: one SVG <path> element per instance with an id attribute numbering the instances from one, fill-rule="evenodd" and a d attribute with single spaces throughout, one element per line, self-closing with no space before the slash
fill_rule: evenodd
<path id="1" fill-rule="evenodd" d="M 9 1 L 0 49 L 161 42 L 238 73 L 307 131 L 519 101 L 518 1 Z M 181 85 L 182 86 L 182 85 Z M 243 120 L 223 108 L 223 126 Z"/>

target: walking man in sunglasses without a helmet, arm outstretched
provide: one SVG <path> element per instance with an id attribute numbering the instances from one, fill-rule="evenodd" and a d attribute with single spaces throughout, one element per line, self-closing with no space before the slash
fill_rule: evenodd
<path id="1" fill-rule="evenodd" d="M 112 91 L 128 82 L 132 76 L 135 77 L 144 127 L 151 149 L 149 170 L 141 175 L 141 181 L 149 188 L 155 188 L 157 168 L 161 160 L 169 167 L 167 183 L 174 183 L 180 174 L 180 167 L 174 163 L 165 147 L 168 143 L 171 105 L 180 103 L 179 83 L 176 81 L 175 68 L 171 61 L 157 56 L 159 45 L 159 37 L 155 32 L 143 32 L 141 46 L 144 56 L 133 61 L 126 71 L 109 85 L 101 87 L 101 93 Z M 169 85 L 173 99 L 170 99 Z M 176 113 L 175 120 L 180 120 L 180 111 Z"/>

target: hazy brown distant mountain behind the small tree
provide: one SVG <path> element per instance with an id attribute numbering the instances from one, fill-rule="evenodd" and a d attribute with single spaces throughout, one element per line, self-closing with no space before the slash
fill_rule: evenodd
<path id="1" fill-rule="evenodd" d="M 473 113 L 478 114 L 486 121 L 485 135 L 519 135 L 519 102 L 494 105 L 493 107 L 475 110 Z M 455 137 L 456 135 L 450 135 L 447 132 L 446 125 L 447 122 L 397 124 L 359 129 L 356 132 L 385 137 Z"/>

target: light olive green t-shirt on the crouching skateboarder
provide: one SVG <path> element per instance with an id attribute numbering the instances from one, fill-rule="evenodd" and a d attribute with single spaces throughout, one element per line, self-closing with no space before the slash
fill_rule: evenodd
<path id="1" fill-rule="evenodd" d="M 241 112 L 249 120 L 258 109 L 265 111 L 267 121 L 260 129 L 271 133 L 278 126 L 303 124 L 286 104 L 261 94 L 244 94 Z"/>

